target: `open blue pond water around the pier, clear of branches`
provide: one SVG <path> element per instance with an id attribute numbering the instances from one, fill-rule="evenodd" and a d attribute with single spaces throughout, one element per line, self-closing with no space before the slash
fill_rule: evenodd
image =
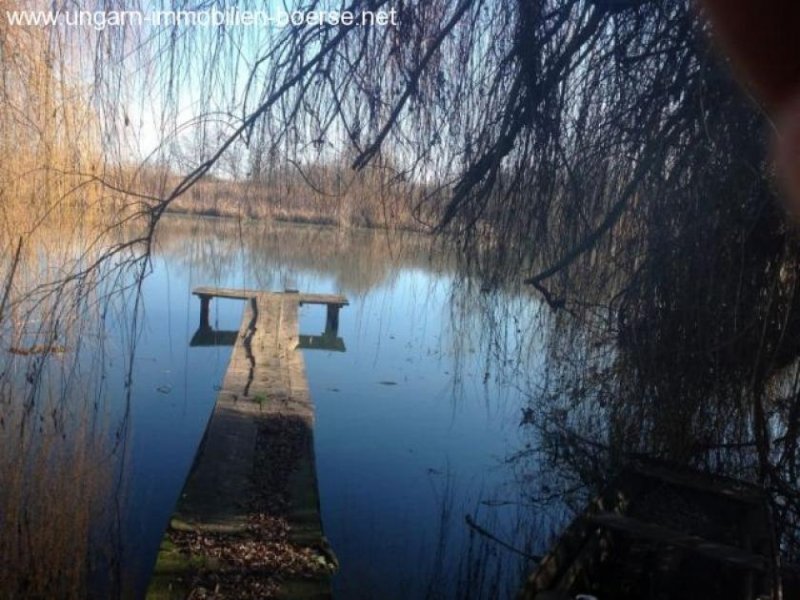
<path id="1" fill-rule="evenodd" d="M 304 351 L 323 527 L 341 563 L 338 598 L 513 594 L 526 560 L 466 517 L 533 554 L 557 520 L 520 509 L 519 473 L 506 463 L 532 442 L 520 417 L 523 390 L 541 368 L 535 301 L 464 291 L 420 238 L 389 244 L 381 232 L 183 217 L 159 231 L 138 335 L 123 335 L 127 321 L 112 324 L 118 343 L 107 351 L 108 389 L 124 394 L 123 348 L 135 341 L 130 396 L 117 404 L 128 411 L 119 543 L 129 589 L 139 595 L 147 584 L 230 355 L 189 347 L 199 321 L 191 290 L 201 285 L 350 301 L 339 327 L 346 351 Z M 215 300 L 212 326 L 238 329 L 242 308 Z M 489 336 L 497 310 L 514 318 Z M 304 307 L 301 332 L 321 333 L 324 321 L 324 308 Z"/>

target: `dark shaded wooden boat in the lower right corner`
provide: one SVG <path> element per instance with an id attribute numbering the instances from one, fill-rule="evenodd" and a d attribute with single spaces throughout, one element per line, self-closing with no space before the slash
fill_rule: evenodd
<path id="1" fill-rule="evenodd" d="M 793 578 L 776 567 L 777 553 L 760 488 L 636 461 L 570 524 L 519 597 L 800 597 L 781 595 Z"/>

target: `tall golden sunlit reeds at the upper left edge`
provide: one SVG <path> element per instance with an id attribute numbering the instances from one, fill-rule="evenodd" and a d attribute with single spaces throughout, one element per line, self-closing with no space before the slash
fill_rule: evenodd
<path id="1" fill-rule="evenodd" d="M 101 152 L 97 107 L 70 40 L 5 19 L 26 7 L 0 0 L 0 298 L 20 255 L 9 305 L 100 256 L 133 204 L 115 191 L 122 170 Z"/>

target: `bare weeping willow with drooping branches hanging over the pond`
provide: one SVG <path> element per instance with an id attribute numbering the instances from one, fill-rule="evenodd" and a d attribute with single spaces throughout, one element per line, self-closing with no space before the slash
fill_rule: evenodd
<path id="1" fill-rule="evenodd" d="M 392 9 L 396 25 L 56 28 L 71 40 L 64 47 L 91 58 L 76 77 L 91 88 L 103 150 L 120 164 L 138 157 L 181 172 L 145 193 L 135 169 L 73 169 L 133 192 L 146 219 L 78 280 L 131 264 L 133 248 L 146 261 L 163 213 L 225 161 L 261 180 L 346 164 L 343 180 L 306 179 L 335 197 L 369 173 L 370 193 L 408 203 L 465 273 L 488 288 L 531 286 L 549 305 L 551 369 L 564 377 L 537 391 L 553 399 L 545 429 L 599 432 L 594 442 L 609 452 L 744 470 L 792 521 L 797 237 L 776 201 L 767 119 L 696 7 L 298 0 L 287 9 L 347 9 L 356 22 Z M 126 141 L 137 135 L 147 156 Z"/>

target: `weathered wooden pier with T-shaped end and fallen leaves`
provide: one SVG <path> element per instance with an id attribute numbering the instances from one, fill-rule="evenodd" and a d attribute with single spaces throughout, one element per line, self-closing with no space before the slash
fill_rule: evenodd
<path id="1" fill-rule="evenodd" d="M 282 582 L 279 595 L 285 598 L 327 597 L 336 561 L 322 533 L 314 467 L 314 407 L 299 349 L 344 351 L 337 330 L 339 309 L 348 304 L 347 299 L 206 287 L 193 293 L 200 299 L 200 326 L 191 345 L 233 344 L 233 351 L 162 544 L 148 597 L 186 597 L 201 585 L 198 582 L 207 583 L 210 577 L 220 585 L 228 575 L 249 582 L 254 589 L 261 589 L 262 583 L 273 585 L 277 577 Z M 246 302 L 238 332 L 211 327 L 213 298 Z M 327 307 L 321 336 L 300 335 L 298 309 L 304 304 Z M 284 528 L 285 539 L 277 540 L 274 548 L 265 542 L 274 535 L 274 531 L 263 532 L 265 522 L 273 529 L 275 523 Z M 213 548 L 216 543 L 223 550 L 207 556 L 197 553 L 192 550 L 198 547 L 195 538 L 202 539 L 200 546 Z M 231 544 L 253 548 L 266 544 L 260 551 L 271 556 L 272 563 L 257 559 L 248 570 L 235 559 L 225 558 L 224 548 Z M 280 551 L 275 548 L 293 553 L 289 562 L 295 566 L 282 572 L 281 557 L 275 555 Z M 296 566 L 304 561 L 314 571 L 311 575 Z"/>

